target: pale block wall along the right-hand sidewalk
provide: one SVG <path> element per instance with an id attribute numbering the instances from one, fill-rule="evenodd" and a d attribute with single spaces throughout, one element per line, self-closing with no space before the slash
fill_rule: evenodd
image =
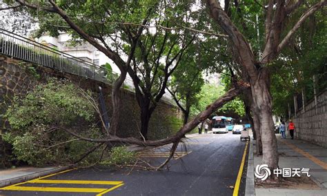
<path id="1" fill-rule="evenodd" d="M 297 112 L 294 118 L 295 137 L 310 141 L 313 144 L 327 147 L 327 90 L 315 100 Z"/>

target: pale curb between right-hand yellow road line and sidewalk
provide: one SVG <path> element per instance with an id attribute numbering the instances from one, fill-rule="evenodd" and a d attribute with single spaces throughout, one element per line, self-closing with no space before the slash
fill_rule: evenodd
<path id="1" fill-rule="evenodd" d="M 248 150 L 248 169 L 246 172 L 246 196 L 255 195 L 255 159 L 253 157 L 253 140 L 250 141 L 250 148 Z"/>

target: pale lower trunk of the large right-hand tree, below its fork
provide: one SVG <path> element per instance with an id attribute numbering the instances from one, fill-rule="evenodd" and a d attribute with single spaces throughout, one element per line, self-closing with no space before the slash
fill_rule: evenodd
<path id="1" fill-rule="evenodd" d="M 274 133 L 272 97 L 270 95 L 270 77 L 267 68 L 262 68 L 255 81 L 250 80 L 253 104 L 258 114 L 261 142 L 262 162 L 270 169 L 278 167 L 277 139 Z"/>

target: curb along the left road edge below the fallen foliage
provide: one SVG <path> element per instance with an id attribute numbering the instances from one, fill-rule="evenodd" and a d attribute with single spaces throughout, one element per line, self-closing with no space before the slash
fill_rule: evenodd
<path id="1" fill-rule="evenodd" d="M 5 179 L 5 180 L 0 181 L 0 187 L 9 186 L 9 185 L 17 184 L 17 183 L 20 183 L 20 182 L 25 182 L 25 181 L 28 181 L 30 179 L 34 179 L 34 178 L 37 178 L 37 177 L 50 175 L 52 173 L 58 173 L 58 172 L 61 172 L 63 170 L 67 170 L 68 168 L 71 168 L 71 166 L 59 166 L 57 168 L 52 168 L 50 170 L 43 170 L 43 171 L 40 171 L 40 172 L 35 172 L 35 173 L 28 174 L 28 175 L 20 176 L 20 177 Z"/>

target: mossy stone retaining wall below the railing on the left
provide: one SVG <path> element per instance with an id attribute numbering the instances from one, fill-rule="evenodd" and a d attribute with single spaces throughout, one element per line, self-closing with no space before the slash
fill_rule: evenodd
<path id="1" fill-rule="evenodd" d="M 12 104 L 14 97 L 24 97 L 37 84 L 45 83 L 50 77 L 69 79 L 77 86 L 96 93 L 99 92 L 99 86 L 101 86 L 109 117 L 112 114 L 110 97 L 112 86 L 0 55 L 0 168 L 10 166 L 8 157 L 11 154 L 10 145 L 4 144 L 1 140 L 1 132 L 10 130 L 10 124 L 3 115 L 6 113 L 8 106 Z M 121 118 L 117 135 L 139 138 L 139 128 L 141 127 L 140 110 L 135 94 L 130 90 L 121 89 L 121 99 Z M 182 112 L 177 106 L 161 101 L 155 112 L 152 113 L 148 138 L 163 139 L 176 133 L 181 126 L 181 115 Z"/>

